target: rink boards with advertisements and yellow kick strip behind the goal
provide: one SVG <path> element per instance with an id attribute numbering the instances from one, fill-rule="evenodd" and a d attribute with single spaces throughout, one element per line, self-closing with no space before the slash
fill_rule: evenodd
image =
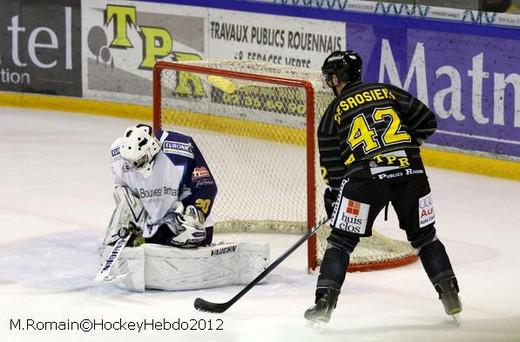
<path id="1" fill-rule="evenodd" d="M 46 4 L 48 11 L 37 1 L 0 3 L 0 105 L 149 120 L 156 60 L 260 59 L 317 69 L 331 51 L 352 48 L 364 59 L 366 81 L 403 87 L 438 115 L 428 164 L 520 177 L 515 16 L 368 1 L 317 8 L 76 0 Z"/>

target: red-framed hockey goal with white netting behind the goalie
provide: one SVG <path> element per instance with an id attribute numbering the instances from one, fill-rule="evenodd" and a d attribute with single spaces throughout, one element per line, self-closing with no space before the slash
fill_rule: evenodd
<path id="1" fill-rule="evenodd" d="M 219 188 L 216 232 L 304 233 L 325 215 L 315 128 L 332 94 L 320 77 L 258 61 L 155 64 L 154 129 L 188 134 L 202 151 Z M 309 270 L 321 262 L 329 229 L 307 243 Z M 349 271 L 416 259 L 407 242 L 374 232 L 354 251 Z"/>

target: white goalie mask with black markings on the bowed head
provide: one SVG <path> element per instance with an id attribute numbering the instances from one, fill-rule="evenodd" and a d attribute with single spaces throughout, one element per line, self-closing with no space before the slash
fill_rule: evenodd
<path id="1" fill-rule="evenodd" d="M 129 127 L 121 139 L 121 157 L 130 162 L 145 177 L 152 172 L 155 156 L 161 150 L 152 127 L 137 124 Z"/>

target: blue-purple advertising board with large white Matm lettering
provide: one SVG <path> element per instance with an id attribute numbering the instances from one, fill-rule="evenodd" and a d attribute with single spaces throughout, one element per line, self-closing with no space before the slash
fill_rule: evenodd
<path id="1" fill-rule="evenodd" d="M 520 156 L 518 40 L 359 24 L 347 36 L 365 80 L 402 87 L 437 114 L 430 143 Z"/>

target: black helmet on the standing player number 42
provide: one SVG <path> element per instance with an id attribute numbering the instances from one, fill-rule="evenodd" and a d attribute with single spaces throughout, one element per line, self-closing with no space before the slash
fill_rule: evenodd
<path id="1" fill-rule="evenodd" d="M 321 67 L 321 72 L 325 83 L 331 88 L 334 87 L 333 75 L 336 75 L 338 81 L 351 83 L 361 80 L 361 67 L 363 61 L 361 56 L 353 51 L 334 51 L 331 53 Z"/>

